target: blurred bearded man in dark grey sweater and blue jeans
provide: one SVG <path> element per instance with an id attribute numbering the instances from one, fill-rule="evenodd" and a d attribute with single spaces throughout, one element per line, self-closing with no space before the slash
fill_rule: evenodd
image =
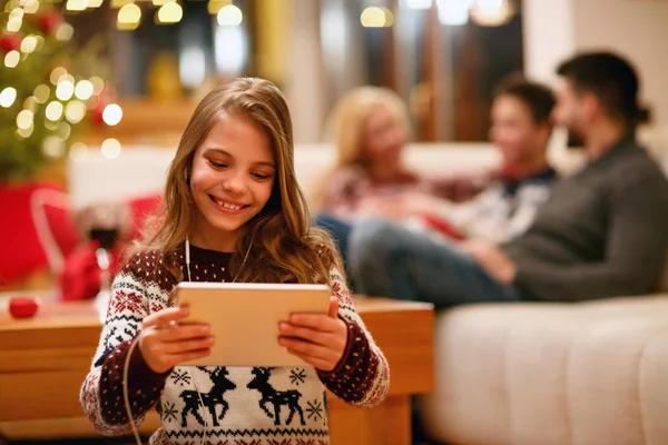
<path id="1" fill-rule="evenodd" d="M 606 52 L 563 62 L 554 118 L 587 166 L 561 180 L 528 231 L 501 247 L 439 245 L 385 220 L 355 227 L 356 291 L 433 303 L 577 301 L 651 291 L 668 244 L 668 181 L 636 142 L 638 78 Z"/>

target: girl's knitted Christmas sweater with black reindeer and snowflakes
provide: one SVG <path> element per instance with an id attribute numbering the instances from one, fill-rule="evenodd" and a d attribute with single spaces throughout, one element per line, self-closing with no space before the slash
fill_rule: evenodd
<path id="1" fill-rule="evenodd" d="M 183 248 L 176 259 L 187 276 Z M 228 260 L 229 254 L 191 246 L 193 281 L 229 281 Z M 128 349 L 141 319 L 167 307 L 176 284 L 156 251 L 136 254 L 117 275 L 100 343 L 81 387 L 81 404 L 99 432 L 120 435 L 131 431 L 121 385 L 127 359 L 136 425 L 153 406 L 161 418 L 151 444 L 325 445 L 330 443 L 325 387 L 352 405 L 373 407 L 384 399 L 390 385 L 387 362 L 355 312 L 335 267 L 328 285 L 340 300 L 338 315 L 348 337 L 341 362 L 330 373 L 307 365 L 176 366 L 165 374 L 154 373 L 139 348 L 131 357 Z"/>

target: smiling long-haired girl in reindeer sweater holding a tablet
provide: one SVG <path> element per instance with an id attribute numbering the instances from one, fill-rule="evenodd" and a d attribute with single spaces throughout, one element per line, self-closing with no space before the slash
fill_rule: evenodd
<path id="1" fill-rule="evenodd" d="M 353 405 L 383 400 L 387 363 L 355 312 L 331 240 L 310 227 L 289 111 L 276 87 L 237 79 L 202 100 L 169 168 L 158 220 L 116 277 L 81 388 L 100 432 L 130 431 L 124 368 L 136 425 L 157 405 L 163 426 L 153 444 L 328 444 L 324 387 Z M 328 315 L 296 314 L 279 326 L 277 342 L 304 367 L 189 367 L 179 364 L 234 338 L 178 324 L 188 310 L 168 301 L 180 280 L 327 283 L 333 297 Z"/>

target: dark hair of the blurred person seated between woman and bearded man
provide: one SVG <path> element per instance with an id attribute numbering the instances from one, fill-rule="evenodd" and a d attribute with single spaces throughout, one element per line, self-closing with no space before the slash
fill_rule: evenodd
<path id="1" fill-rule="evenodd" d="M 494 90 L 494 99 L 502 96 L 513 97 L 527 105 L 536 123 L 550 122 L 556 99 L 549 87 L 529 81 L 521 75 L 510 75 Z"/>

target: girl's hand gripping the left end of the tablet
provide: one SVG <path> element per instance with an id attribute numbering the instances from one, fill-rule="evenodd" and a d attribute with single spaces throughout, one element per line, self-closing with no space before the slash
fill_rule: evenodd
<path id="1" fill-rule="evenodd" d="M 154 373 L 164 374 L 179 363 L 210 354 L 214 337 L 207 325 L 176 323 L 188 314 L 186 307 L 171 307 L 144 318 L 139 350 Z"/>

